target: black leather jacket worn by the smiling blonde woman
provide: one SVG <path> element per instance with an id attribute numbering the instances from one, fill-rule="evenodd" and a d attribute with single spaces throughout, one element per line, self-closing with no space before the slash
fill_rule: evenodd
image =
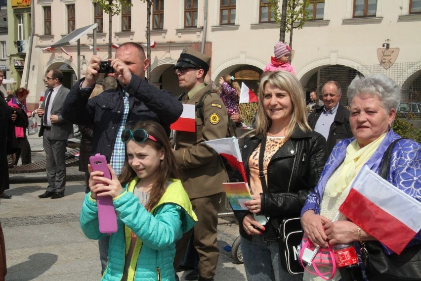
<path id="1" fill-rule="evenodd" d="M 241 147 L 243 162 L 250 182 L 249 158 L 260 143 L 262 136 L 246 138 Z M 284 219 L 300 216 L 307 195 L 317 185 L 328 158 L 326 140 L 316 132 L 302 132 L 296 127 L 291 138 L 272 156 L 267 169 L 268 193 L 261 193 L 260 215 L 269 216 L 266 240 L 276 240 L 275 227 Z M 249 212 L 234 212 L 240 234 L 251 236 L 243 229 L 243 218 Z M 269 227 L 270 226 L 270 227 Z"/>

